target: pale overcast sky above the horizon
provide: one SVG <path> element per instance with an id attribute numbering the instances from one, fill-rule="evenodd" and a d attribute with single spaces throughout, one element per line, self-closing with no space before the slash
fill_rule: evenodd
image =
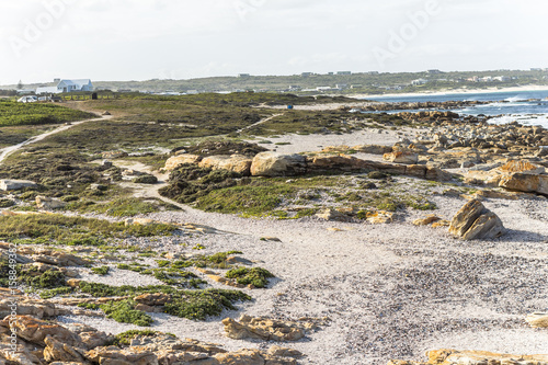
<path id="1" fill-rule="evenodd" d="M 546 0 L 0 0 L 0 84 L 548 67 Z"/>

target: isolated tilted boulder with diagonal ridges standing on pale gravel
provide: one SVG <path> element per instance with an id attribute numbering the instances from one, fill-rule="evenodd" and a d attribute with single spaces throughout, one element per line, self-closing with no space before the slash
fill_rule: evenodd
<path id="1" fill-rule="evenodd" d="M 481 202 L 471 199 L 453 217 L 449 232 L 464 240 L 493 239 L 504 233 L 504 226 Z"/>

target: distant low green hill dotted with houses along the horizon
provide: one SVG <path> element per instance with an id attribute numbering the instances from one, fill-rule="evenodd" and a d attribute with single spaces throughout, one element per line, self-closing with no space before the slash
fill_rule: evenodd
<path id="1" fill-rule="evenodd" d="M 473 82 L 473 77 L 506 77 L 505 81 Z M 316 88 L 327 89 L 324 93 L 397 93 L 421 92 L 450 89 L 487 89 L 493 87 L 509 88 L 527 84 L 548 84 L 548 72 L 543 70 L 491 70 L 467 72 L 400 72 L 353 75 L 310 75 L 310 76 L 249 76 L 249 77 L 212 77 L 190 80 L 147 80 L 147 81 L 94 81 L 96 89 L 144 91 L 144 92 L 231 92 L 243 90 L 287 92 L 298 94 L 318 93 Z M 411 85 L 414 80 L 426 80 L 424 84 Z M 420 82 L 419 82 L 420 83 Z M 53 83 L 25 84 L 25 89 Z M 336 90 L 336 88 L 341 90 Z M 7 85 L 0 89 L 14 89 Z M 313 91 L 306 91 L 313 89 Z"/>

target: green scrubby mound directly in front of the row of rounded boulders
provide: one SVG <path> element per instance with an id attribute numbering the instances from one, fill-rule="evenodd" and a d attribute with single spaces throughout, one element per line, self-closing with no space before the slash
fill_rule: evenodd
<path id="1" fill-rule="evenodd" d="M 220 170 L 218 170 L 220 171 Z M 218 172 L 216 171 L 216 172 Z M 319 207 L 315 201 L 328 195 L 324 204 L 346 203 L 362 209 L 380 209 L 396 212 L 403 208 L 420 210 L 436 209 L 435 204 L 425 196 L 407 193 L 406 186 L 388 187 L 395 184 L 392 179 L 384 173 L 369 173 L 369 179 L 381 179 L 378 182 L 381 190 L 370 192 L 372 182 L 365 176 L 298 176 L 287 183 L 285 178 L 248 178 L 236 181 L 228 178 L 221 184 L 208 185 L 202 183 L 207 176 L 207 170 L 185 166 L 175 170 L 170 178 L 170 186 L 162 191 L 171 198 L 185 203 L 194 202 L 195 206 L 206 212 L 240 214 L 246 217 L 274 216 L 278 218 L 301 218 L 313 215 Z M 218 173 L 222 176 L 222 173 Z M 189 178 L 190 176 L 190 178 Z M 226 174 L 225 174 L 226 176 Z M 194 180 L 190 180 L 194 179 Z M 228 185 L 228 186 L 224 186 Z M 181 187 L 185 189 L 181 189 Z M 201 186 L 202 190 L 190 189 Z M 395 184 L 395 186 L 398 186 Z M 285 209 L 290 205 L 302 206 L 294 215 Z"/>

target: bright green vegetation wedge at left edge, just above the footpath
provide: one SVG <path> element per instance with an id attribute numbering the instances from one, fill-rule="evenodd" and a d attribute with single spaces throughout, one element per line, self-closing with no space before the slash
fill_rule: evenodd
<path id="1" fill-rule="evenodd" d="M 95 115 L 53 104 L 28 104 L 0 100 L 0 127 L 59 124 L 92 117 Z"/>

